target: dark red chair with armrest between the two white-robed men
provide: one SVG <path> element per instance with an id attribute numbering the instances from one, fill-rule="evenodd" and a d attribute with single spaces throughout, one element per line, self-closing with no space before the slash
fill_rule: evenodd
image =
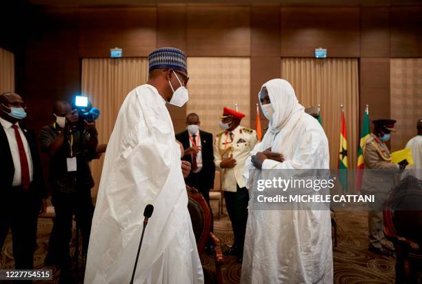
<path id="1" fill-rule="evenodd" d="M 188 189 L 188 210 L 190 219 L 192 220 L 192 227 L 197 240 L 198 254 L 201 258 L 205 245 L 210 239 L 214 245 L 214 261 L 215 261 L 215 274 L 217 283 L 223 283 L 223 274 L 221 273 L 221 265 L 224 263 L 223 251 L 221 250 L 220 241 L 211 230 L 212 218 L 211 210 L 207 201 L 203 198 L 202 194 L 194 188 Z"/>

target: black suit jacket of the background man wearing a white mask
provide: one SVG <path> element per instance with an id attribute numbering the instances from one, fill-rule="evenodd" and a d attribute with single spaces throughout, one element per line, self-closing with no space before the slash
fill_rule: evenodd
<path id="1" fill-rule="evenodd" d="M 199 136 L 201 136 L 202 145 L 202 170 L 197 174 L 190 172 L 189 176 L 185 178 L 185 183 L 198 189 L 210 190 L 214 187 L 215 175 L 212 134 L 199 130 Z M 183 144 L 183 149 L 190 147 L 188 130 L 176 134 L 176 139 Z M 182 160 L 192 163 L 192 155 L 185 155 Z"/>

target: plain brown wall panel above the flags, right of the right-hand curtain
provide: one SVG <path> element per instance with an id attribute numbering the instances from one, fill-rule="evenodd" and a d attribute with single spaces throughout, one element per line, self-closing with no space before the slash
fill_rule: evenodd
<path id="1" fill-rule="evenodd" d="M 390 58 L 362 58 L 360 86 L 360 119 L 367 103 L 371 121 L 390 118 Z"/>

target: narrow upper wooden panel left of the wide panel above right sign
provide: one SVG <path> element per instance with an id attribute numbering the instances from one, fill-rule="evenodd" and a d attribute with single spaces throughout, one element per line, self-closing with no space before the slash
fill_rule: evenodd
<path id="1" fill-rule="evenodd" d="M 251 56 L 280 56 L 280 10 L 274 6 L 251 8 Z"/>

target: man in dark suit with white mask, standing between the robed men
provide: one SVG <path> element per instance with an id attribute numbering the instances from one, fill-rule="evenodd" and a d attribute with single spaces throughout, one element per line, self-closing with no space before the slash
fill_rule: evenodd
<path id="1" fill-rule="evenodd" d="M 200 124 L 198 114 L 188 114 L 186 117 L 188 129 L 177 134 L 176 139 L 185 149 L 182 160 L 189 161 L 192 168 L 185 178 L 185 183 L 195 187 L 210 203 L 210 189 L 214 186 L 215 174 L 213 141 L 211 133 L 199 130 Z"/>

